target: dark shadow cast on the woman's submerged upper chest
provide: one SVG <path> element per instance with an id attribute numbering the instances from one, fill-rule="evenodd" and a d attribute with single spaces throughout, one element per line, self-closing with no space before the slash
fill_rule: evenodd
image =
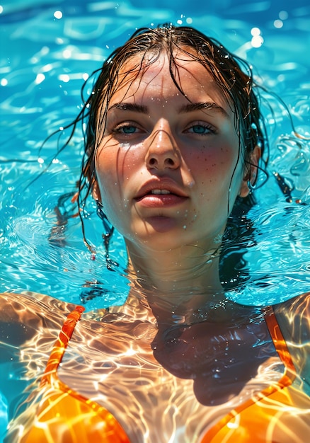
<path id="1" fill-rule="evenodd" d="M 277 355 L 263 316 L 255 309 L 244 309 L 238 322 L 223 324 L 202 321 L 190 326 L 159 324 L 154 338 L 154 357 L 171 374 L 193 379 L 197 400 L 203 405 L 218 405 L 238 396 L 256 376 L 258 367 Z"/>

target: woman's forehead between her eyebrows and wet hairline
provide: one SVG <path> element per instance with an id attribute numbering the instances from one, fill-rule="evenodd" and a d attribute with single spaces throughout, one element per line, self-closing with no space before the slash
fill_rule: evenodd
<path id="1" fill-rule="evenodd" d="M 203 95 L 227 110 L 230 108 L 226 96 L 207 67 L 183 51 L 173 54 L 172 64 L 166 52 L 159 57 L 151 52 L 130 57 L 118 72 L 114 91 L 112 101 L 132 100 L 138 96 L 141 100 L 152 94 L 154 98 L 163 99 L 176 95 L 184 98 L 185 94 L 190 101 L 201 101 Z"/>

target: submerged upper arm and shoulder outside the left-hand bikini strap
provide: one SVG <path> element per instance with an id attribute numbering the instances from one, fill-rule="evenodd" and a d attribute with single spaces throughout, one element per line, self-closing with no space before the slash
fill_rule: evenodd
<path id="1" fill-rule="evenodd" d="M 0 391 L 8 405 L 44 372 L 70 309 L 42 294 L 0 294 Z"/>

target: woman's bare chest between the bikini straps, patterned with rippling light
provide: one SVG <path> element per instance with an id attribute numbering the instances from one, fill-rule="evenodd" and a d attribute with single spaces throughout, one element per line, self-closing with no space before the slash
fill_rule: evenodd
<path id="1" fill-rule="evenodd" d="M 84 331 L 71 340 L 58 375 L 108 408 L 134 442 L 198 441 L 211 423 L 280 379 L 272 341 L 257 333 L 136 325 L 116 335 L 108 328 L 98 339 Z"/>

